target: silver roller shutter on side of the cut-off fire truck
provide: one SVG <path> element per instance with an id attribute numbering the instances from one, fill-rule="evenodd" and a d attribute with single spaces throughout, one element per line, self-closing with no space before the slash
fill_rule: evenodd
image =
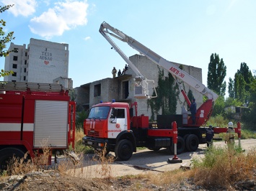
<path id="1" fill-rule="evenodd" d="M 68 101 L 35 101 L 35 147 L 67 146 L 68 104 Z"/>

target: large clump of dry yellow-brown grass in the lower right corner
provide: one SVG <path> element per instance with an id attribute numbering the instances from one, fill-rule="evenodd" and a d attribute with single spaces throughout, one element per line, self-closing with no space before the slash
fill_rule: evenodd
<path id="1" fill-rule="evenodd" d="M 214 148 L 206 152 L 202 162 L 196 162 L 190 172 L 197 185 L 230 188 L 234 182 L 253 179 L 256 150 L 241 152 L 237 148 Z"/>

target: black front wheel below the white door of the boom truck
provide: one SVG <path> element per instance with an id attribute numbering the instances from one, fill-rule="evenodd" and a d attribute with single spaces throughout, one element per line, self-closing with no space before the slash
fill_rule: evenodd
<path id="1" fill-rule="evenodd" d="M 115 146 L 115 157 L 119 160 L 127 161 L 133 155 L 133 144 L 131 141 L 123 139 Z"/>

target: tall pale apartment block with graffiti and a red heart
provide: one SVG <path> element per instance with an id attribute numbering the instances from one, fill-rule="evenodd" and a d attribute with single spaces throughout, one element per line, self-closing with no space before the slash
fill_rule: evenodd
<path id="1" fill-rule="evenodd" d="M 4 70 L 12 70 L 12 75 L 4 76 L 4 81 L 28 83 L 63 83 L 72 88 L 69 74 L 69 45 L 30 39 L 30 44 L 11 43 L 9 56 L 5 59 Z M 68 81 L 68 83 L 67 83 Z"/>

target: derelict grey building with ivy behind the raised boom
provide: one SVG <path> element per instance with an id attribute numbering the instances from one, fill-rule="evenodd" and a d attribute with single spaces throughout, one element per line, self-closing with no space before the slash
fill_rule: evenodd
<path id="1" fill-rule="evenodd" d="M 145 78 L 154 80 L 155 87 L 158 86 L 159 71 L 164 70 L 164 76 L 168 76 L 167 70 L 159 67 L 143 55 L 133 55 L 129 57 L 129 60 L 133 62 L 133 65 L 136 65 Z M 181 64 L 175 63 L 175 65 L 180 66 Z M 202 82 L 202 70 L 200 68 L 189 65 L 182 65 L 182 67 L 186 73 Z M 134 98 L 134 77 L 136 77 L 136 73 L 129 69 L 125 72 L 125 75 L 121 75 L 120 77 L 105 78 L 81 85 L 79 88 L 76 88 L 76 103 L 78 108 L 88 109 L 95 103 L 100 103 L 100 101 L 112 101 L 112 99 L 127 103 L 136 101 L 138 103 L 138 115 L 145 114 L 146 116 L 151 116 L 151 108 L 148 106 L 147 101 L 145 99 Z M 185 83 L 182 87 L 184 87 L 186 92 L 192 90 L 198 107 L 203 103 L 202 94 Z M 153 94 L 153 90 L 153 84 L 149 83 L 149 95 Z M 185 98 L 182 93 L 180 93 L 179 100 L 177 101 L 177 114 L 182 113 L 182 106 L 185 106 L 185 104 Z M 159 111 L 159 113 L 162 113 L 162 111 Z"/>

